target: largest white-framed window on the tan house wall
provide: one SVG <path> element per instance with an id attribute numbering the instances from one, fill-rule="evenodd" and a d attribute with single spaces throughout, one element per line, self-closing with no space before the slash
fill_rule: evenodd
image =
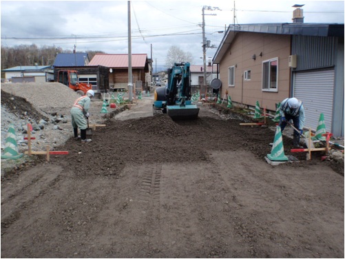
<path id="1" fill-rule="evenodd" d="M 278 58 L 262 62 L 262 90 L 278 92 Z"/>

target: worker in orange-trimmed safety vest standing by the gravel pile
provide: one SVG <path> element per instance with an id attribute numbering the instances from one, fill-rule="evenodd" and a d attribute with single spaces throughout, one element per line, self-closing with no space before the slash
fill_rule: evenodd
<path id="1" fill-rule="evenodd" d="M 74 138 L 79 139 L 78 128 L 81 129 L 81 142 L 90 142 L 90 138 L 86 138 L 87 119 L 89 118 L 89 108 L 92 97 L 94 97 L 94 91 L 88 90 L 86 95 L 79 97 L 74 102 L 71 109 L 72 127 L 74 132 Z"/>

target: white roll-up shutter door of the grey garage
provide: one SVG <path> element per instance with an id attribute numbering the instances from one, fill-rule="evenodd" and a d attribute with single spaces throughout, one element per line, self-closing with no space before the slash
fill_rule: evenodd
<path id="1" fill-rule="evenodd" d="M 294 77 L 294 96 L 303 102 L 305 110 L 304 127 L 316 130 L 323 113 L 326 131 L 331 132 L 334 70 L 296 72 Z"/>

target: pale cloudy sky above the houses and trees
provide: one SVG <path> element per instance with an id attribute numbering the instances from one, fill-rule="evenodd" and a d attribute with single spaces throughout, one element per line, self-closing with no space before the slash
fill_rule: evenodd
<path id="1" fill-rule="evenodd" d="M 235 23 L 291 23 L 294 4 L 304 4 L 304 23 L 344 23 L 344 1 L 235 1 Z M 234 21 L 234 1 L 130 1 L 132 54 L 145 53 L 165 65 L 177 45 L 202 64 L 202 8 L 211 45 L 218 46 Z M 1 46 L 36 44 L 78 52 L 128 52 L 128 1 L 1 1 Z M 16 39 L 13 39 L 16 38 Z M 152 49 L 152 52 L 151 52 Z M 213 57 L 216 48 L 207 50 Z"/>

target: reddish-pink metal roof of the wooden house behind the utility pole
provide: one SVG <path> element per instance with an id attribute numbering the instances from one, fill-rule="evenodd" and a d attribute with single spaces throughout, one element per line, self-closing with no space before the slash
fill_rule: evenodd
<path id="1" fill-rule="evenodd" d="M 132 68 L 145 68 L 147 54 L 132 54 Z M 96 54 L 89 65 L 107 68 L 128 68 L 128 54 Z"/>

